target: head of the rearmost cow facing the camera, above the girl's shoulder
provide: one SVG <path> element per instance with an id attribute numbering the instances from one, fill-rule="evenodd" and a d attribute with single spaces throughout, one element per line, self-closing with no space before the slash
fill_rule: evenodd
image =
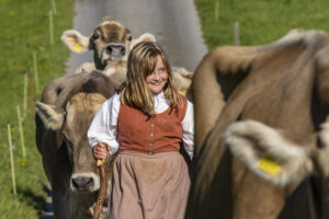
<path id="1" fill-rule="evenodd" d="M 137 43 L 155 42 L 156 39 L 148 33 L 133 38 L 131 31 L 118 21 L 104 18 L 90 36 L 83 36 L 76 30 L 69 30 L 61 34 L 61 41 L 75 53 L 93 50 L 95 67 L 103 70 L 109 61 L 126 61 L 129 51 Z"/>

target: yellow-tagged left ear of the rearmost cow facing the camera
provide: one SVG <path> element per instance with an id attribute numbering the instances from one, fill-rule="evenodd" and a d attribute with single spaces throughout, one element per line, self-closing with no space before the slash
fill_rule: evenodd
<path id="1" fill-rule="evenodd" d="M 77 54 L 82 54 L 89 48 L 89 37 L 83 36 L 76 30 L 63 32 L 60 39 L 71 51 Z"/>

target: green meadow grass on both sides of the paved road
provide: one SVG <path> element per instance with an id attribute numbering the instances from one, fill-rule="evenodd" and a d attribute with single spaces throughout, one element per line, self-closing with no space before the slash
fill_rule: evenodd
<path id="1" fill-rule="evenodd" d="M 56 3 L 54 8 L 52 2 Z M 239 23 L 240 45 L 269 44 L 292 28 L 329 31 L 327 0 L 194 0 L 209 49 L 234 45 Z M 49 10 L 54 43 L 50 44 Z M 34 102 L 45 84 L 65 73 L 69 51 L 59 37 L 72 26 L 72 0 L 1 0 L 0 2 L 0 218 L 39 218 L 45 208 L 45 175 L 34 141 Z M 33 61 L 35 54 L 37 78 Z M 25 77 L 27 83 L 24 82 Z M 26 89 L 25 84 L 27 84 Z M 38 90 L 37 90 L 38 84 Z M 24 92 L 26 91 L 26 93 Z M 25 93 L 25 97 L 24 97 Z M 21 111 L 26 158 L 20 140 Z M 11 125 L 16 195 L 8 140 Z"/>

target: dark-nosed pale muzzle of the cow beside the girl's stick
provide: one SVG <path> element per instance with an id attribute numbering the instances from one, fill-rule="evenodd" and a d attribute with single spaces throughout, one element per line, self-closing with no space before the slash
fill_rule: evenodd
<path id="1" fill-rule="evenodd" d="M 94 173 L 72 174 L 70 186 L 72 192 L 95 192 L 100 188 L 100 177 Z"/>

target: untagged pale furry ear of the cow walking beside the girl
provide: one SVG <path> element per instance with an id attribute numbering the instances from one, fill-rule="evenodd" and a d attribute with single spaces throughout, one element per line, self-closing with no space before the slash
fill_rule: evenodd
<path id="1" fill-rule="evenodd" d="M 36 102 L 35 111 L 47 129 L 58 130 L 61 128 L 65 117 L 65 111 L 63 108 Z"/>

